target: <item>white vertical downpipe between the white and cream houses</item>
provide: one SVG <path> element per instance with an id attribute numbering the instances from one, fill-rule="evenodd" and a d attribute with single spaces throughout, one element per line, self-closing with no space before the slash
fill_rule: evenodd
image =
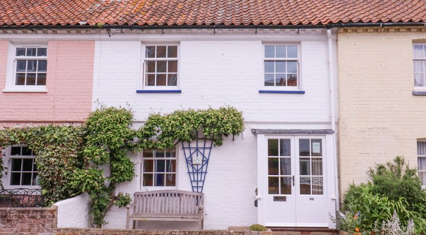
<path id="1" fill-rule="evenodd" d="M 332 122 L 333 133 L 333 160 L 334 160 L 334 196 L 336 203 L 336 209 L 339 209 L 339 183 L 338 183 L 338 166 L 337 166 L 337 143 L 336 143 L 336 115 L 335 115 L 335 103 L 334 103 L 334 70 L 333 70 L 333 43 L 332 43 L 332 31 L 327 29 L 328 38 L 328 80 L 330 85 L 330 121 Z"/>

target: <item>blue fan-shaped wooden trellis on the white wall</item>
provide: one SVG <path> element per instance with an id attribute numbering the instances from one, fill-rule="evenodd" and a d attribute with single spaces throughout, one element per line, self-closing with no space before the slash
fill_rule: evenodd
<path id="1" fill-rule="evenodd" d="M 200 139 L 198 138 L 198 134 L 192 146 L 189 142 L 182 142 L 182 149 L 185 154 L 186 167 L 190 175 L 193 192 L 203 192 L 212 146 L 213 142 L 211 140 L 205 138 Z M 194 163 L 197 161 L 199 164 Z"/>

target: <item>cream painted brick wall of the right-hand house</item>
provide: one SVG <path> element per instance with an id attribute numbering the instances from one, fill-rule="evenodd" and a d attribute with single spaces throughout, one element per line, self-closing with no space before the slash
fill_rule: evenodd
<path id="1" fill-rule="evenodd" d="M 365 31 L 338 34 L 341 193 L 397 155 L 416 167 L 426 137 L 426 97 L 412 95 L 413 40 L 426 33 Z"/>

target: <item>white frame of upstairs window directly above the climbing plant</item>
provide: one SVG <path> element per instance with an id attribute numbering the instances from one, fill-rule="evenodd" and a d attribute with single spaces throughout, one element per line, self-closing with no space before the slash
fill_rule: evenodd
<path id="1" fill-rule="evenodd" d="M 145 73 L 145 69 L 146 69 L 146 61 L 148 60 L 154 60 L 154 61 L 158 61 L 158 60 L 170 60 L 170 58 L 146 58 L 146 48 L 147 46 L 177 46 L 177 82 L 176 82 L 176 86 L 147 86 L 145 85 L 145 80 L 146 78 L 146 73 Z M 141 49 L 141 76 L 140 76 L 140 83 L 139 83 L 139 88 L 143 89 L 143 90 L 176 90 L 179 89 L 179 84 L 180 84 L 180 43 L 177 42 L 160 42 L 160 43 L 155 43 L 155 42 L 144 42 L 142 43 L 142 49 Z"/>

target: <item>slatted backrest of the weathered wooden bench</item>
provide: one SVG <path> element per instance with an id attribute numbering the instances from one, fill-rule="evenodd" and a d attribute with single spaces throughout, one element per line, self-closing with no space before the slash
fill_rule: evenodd
<path id="1" fill-rule="evenodd" d="M 204 195 L 180 190 L 136 192 L 135 213 L 202 214 Z M 202 208 L 202 207 L 201 207 Z"/>

